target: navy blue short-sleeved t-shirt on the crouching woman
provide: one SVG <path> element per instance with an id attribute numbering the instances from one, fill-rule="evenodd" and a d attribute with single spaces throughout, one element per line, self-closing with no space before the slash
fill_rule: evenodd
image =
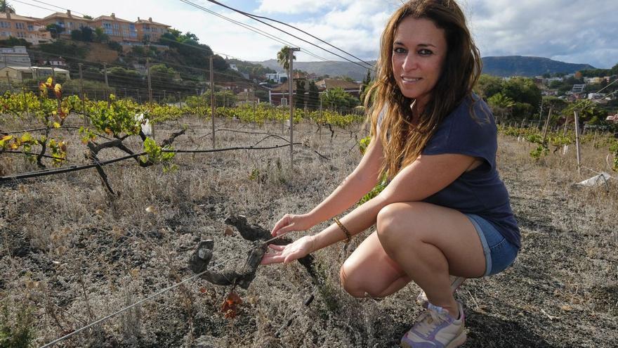
<path id="1" fill-rule="evenodd" d="M 471 103 L 474 104 L 474 118 Z M 504 182 L 496 169 L 497 127 L 491 110 L 478 96 L 468 97 L 438 125 L 422 155 L 459 153 L 484 160 L 449 186 L 423 202 L 475 214 L 489 221 L 508 240 L 520 247 L 520 231 L 511 210 Z"/>

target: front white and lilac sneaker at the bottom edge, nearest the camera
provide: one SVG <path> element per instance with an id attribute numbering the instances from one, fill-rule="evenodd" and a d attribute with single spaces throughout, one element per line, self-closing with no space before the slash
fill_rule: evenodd
<path id="1" fill-rule="evenodd" d="M 457 302 L 459 318 L 453 318 L 442 307 L 428 304 L 426 311 L 416 319 L 416 324 L 401 337 L 404 348 L 454 348 L 466 342 L 463 330 L 465 318 L 461 303 Z"/>

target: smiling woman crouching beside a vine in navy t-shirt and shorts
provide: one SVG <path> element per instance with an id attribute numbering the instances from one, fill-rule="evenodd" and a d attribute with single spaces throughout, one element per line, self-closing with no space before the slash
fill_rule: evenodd
<path id="1" fill-rule="evenodd" d="M 343 288 L 355 297 L 385 297 L 414 281 L 426 311 L 402 346 L 458 347 L 466 333 L 454 289 L 464 278 L 506 269 L 520 248 L 496 169 L 494 118 L 472 91 L 480 53 L 454 1 L 412 0 L 390 18 L 378 67 L 367 153 L 320 205 L 286 214 L 272 235 L 341 214 L 383 173 L 388 186 L 320 233 L 272 245 L 262 263 L 291 262 L 375 224 L 341 267 Z"/>

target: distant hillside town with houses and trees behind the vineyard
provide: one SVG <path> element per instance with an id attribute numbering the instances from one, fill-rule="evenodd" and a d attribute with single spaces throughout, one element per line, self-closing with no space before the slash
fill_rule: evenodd
<path id="1" fill-rule="evenodd" d="M 79 45 L 77 51 L 72 53 L 70 50 L 76 48 L 71 45 L 80 42 L 90 45 L 88 50 L 92 50 L 98 44 L 97 56 L 88 56 L 83 51 L 79 56 Z M 183 45 L 191 46 L 191 49 L 196 51 L 185 49 Z M 176 53 L 169 53 L 170 50 L 176 50 Z M 197 53 L 197 50 L 207 51 L 200 52 L 204 58 L 196 58 L 198 55 L 194 53 Z M 68 82 L 75 79 L 75 75 L 81 74 L 77 66 L 81 64 L 86 69 L 84 79 L 93 80 L 93 84 L 89 87 L 89 98 L 99 98 L 103 96 L 103 91 L 111 87 L 115 88 L 117 93 L 123 91 L 124 96 L 142 101 L 147 95 L 143 91 L 147 88 L 145 60 L 152 59 L 159 60 L 153 67 L 153 71 L 159 74 L 159 84 L 152 87 L 156 89 L 155 101 L 180 102 L 187 96 L 206 92 L 209 81 L 201 72 L 196 77 L 195 70 L 208 70 L 207 56 L 216 55 L 209 46 L 199 44 L 199 39 L 195 35 L 183 34 L 174 30 L 171 25 L 157 22 L 150 17 L 127 20 L 110 13 L 91 18 L 66 11 L 52 13 L 44 18 L 33 18 L 8 10 L 0 13 L 0 83 L 8 85 L 8 88 L 20 85 L 23 89 L 27 89 L 28 84 L 32 85 L 29 81 L 52 75 L 60 81 Z M 282 72 L 284 70 L 281 68 L 274 69 L 272 65 L 265 67 L 259 63 L 218 56 L 216 59 L 218 60 L 215 61 L 214 69 L 219 72 L 216 86 L 229 95 L 225 98 L 226 101 L 230 100 L 237 104 L 267 102 L 272 105 L 287 105 L 288 72 Z M 100 65 L 103 65 L 103 69 Z M 608 115 L 613 115 L 618 108 L 617 94 L 598 91 L 614 84 L 617 70 L 618 67 L 609 70 L 546 72 L 540 76 L 527 77 L 536 84 L 537 88 L 533 94 L 540 94 L 538 98 L 526 99 L 525 93 L 509 89 L 508 81 L 511 79 L 519 81 L 521 77 L 491 77 L 491 84 L 499 84 L 500 91 L 487 88 L 481 82 L 478 93 L 490 102 L 494 97 L 493 103 L 498 109 L 504 109 L 505 101 L 495 95 L 506 97 L 506 105 L 510 105 L 511 100 L 515 105 L 513 113 L 521 115 L 532 115 L 533 110 L 542 108 L 541 96 L 560 99 L 565 103 L 588 99 L 605 108 Z M 344 75 L 330 76 L 295 69 L 293 89 L 294 94 L 298 94 L 297 101 L 305 103 L 305 106 L 308 103 L 310 108 L 317 108 L 322 94 L 336 90 L 343 96 L 337 97 L 341 105 L 351 109 L 360 105 L 360 98 L 371 84 L 371 79 L 370 72 L 367 72 L 367 77 L 360 81 Z M 102 83 L 105 83 L 105 86 L 101 86 Z M 517 83 L 525 85 L 524 82 Z M 508 91 L 512 93 L 509 95 Z M 615 92 L 615 88 L 610 91 Z M 513 110 L 513 107 L 508 109 Z"/>

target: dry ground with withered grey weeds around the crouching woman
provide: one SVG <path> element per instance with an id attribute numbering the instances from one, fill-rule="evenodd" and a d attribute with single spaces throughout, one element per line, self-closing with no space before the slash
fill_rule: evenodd
<path id="1" fill-rule="evenodd" d="M 249 132 L 221 133 L 221 147 L 263 138 L 251 131 L 281 134 L 277 124 L 226 127 Z M 207 128 L 191 127 L 176 148 L 195 148 Z M 213 264 L 246 250 L 251 245 L 237 231 L 226 231 L 226 217 L 244 214 L 270 228 L 286 212 L 314 207 L 360 160 L 349 132 L 331 139 L 316 129 L 301 124 L 295 134 L 331 160 L 297 149 L 294 175 L 284 170 L 289 151 L 282 149 L 178 156 L 173 174 L 110 166 L 110 183 L 121 192 L 114 201 L 93 171 L 0 186 L 0 303 L 8 313 L 0 320 L 29 309 L 40 346 L 192 276 L 187 262 L 199 240 L 214 240 Z M 530 150 L 500 137 L 499 169 L 522 250 L 511 269 L 458 290 L 467 318 L 463 347 L 615 347 L 618 181 L 610 181 L 610 193 L 574 188 L 587 176 L 577 176 L 573 153 L 535 162 Z M 584 159 L 600 169 L 606 154 L 589 148 Z M 16 158 L 4 166 L 32 169 Z M 296 263 L 259 268 L 247 290 L 236 289 L 243 303 L 235 318 L 219 311 L 229 288 L 199 280 L 60 347 L 394 347 L 421 311 L 419 288 L 411 284 L 381 301 L 348 296 L 338 267 L 349 252 L 334 246 L 315 253 L 320 286 Z M 242 266 L 242 258 L 225 265 Z"/>

